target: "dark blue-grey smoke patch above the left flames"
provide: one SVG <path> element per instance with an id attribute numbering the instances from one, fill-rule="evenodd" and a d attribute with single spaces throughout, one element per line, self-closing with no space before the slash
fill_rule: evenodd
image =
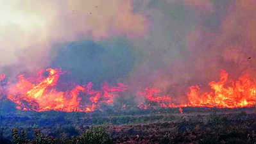
<path id="1" fill-rule="evenodd" d="M 64 81 L 115 84 L 126 77 L 135 63 L 134 47 L 124 38 L 111 42 L 83 40 L 55 47 L 51 51 L 51 67 L 70 72 L 60 78 Z"/>

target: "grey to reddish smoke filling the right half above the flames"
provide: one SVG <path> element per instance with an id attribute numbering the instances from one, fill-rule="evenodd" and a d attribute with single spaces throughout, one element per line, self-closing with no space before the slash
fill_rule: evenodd
<path id="1" fill-rule="evenodd" d="M 160 88 L 171 97 L 218 80 L 221 69 L 237 78 L 255 74 L 254 1 L 141 1 L 148 35 L 133 43 L 141 51 L 129 85 Z M 253 71 L 254 70 L 254 71 Z M 209 87 L 209 86 L 208 86 Z"/>

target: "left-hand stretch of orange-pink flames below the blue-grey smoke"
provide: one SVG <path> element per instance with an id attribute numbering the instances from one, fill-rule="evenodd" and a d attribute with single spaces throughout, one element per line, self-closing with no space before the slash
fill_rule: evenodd
<path id="1" fill-rule="evenodd" d="M 117 92 L 126 90 L 124 84 L 110 87 L 104 83 L 100 91 L 92 90 L 92 83 L 85 86 L 77 85 L 71 91 L 59 92 L 56 90 L 56 84 L 61 74 L 61 70 L 49 68 L 46 70 L 48 77 L 44 77 L 42 81 L 31 83 L 31 77 L 25 78 L 24 75 L 19 76 L 19 81 L 10 86 L 7 98 L 17 104 L 18 109 L 33 111 L 81 111 L 90 112 L 100 107 L 99 100 L 102 103 L 110 103 L 114 101 Z M 39 72 L 42 73 L 42 72 Z M 40 78 L 39 78 L 40 79 Z M 83 98 L 80 94 L 89 97 L 90 104 L 81 104 Z"/>

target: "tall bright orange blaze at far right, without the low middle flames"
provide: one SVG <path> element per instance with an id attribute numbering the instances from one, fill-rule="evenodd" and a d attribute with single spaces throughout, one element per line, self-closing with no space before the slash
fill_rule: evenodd
<path id="1" fill-rule="evenodd" d="M 225 86 L 231 83 L 231 86 Z M 209 83 L 214 92 L 199 94 L 198 86 L 191 86 L 188 99 L 191 106 L 209 106 L 218 108 L 243 108 L 255 106 L 256 84 L 248 75 L 239 77 L 238 81 L 228 81 L 228 73 L 221 71 L 219 82 Z"/>

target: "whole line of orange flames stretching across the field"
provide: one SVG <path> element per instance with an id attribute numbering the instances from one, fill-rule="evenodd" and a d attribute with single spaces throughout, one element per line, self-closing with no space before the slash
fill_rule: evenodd
<path id="1" fill-rule="evenodd" d="M 47 71 L 48 76 L 44 76 Z M 63 74 L 61 69 L 48 68 L 40 70 L 38 77 L 26 77 L 24 74 L 17 77 L 17 83 L 6 82 L 6 76 L 0 75 L 0 98 L 6 95 L 7 99 L 15 102 L 18 109 L 24 111 L 80 111 L 91 112 L 100 109 L 101 104 L 113 104 L 115 97 L 128 90 L 127 86 L 117 83 L 117 86 L 108 86 L 103 83 L 100 90 L 94 90 L 92 83 L 76 85 L 71 90 L 59 91 L 56 86 Z M 10 84 L 4 86 L 4 84 Z M 170 95 L 162 95 L 158 88 L 145 88 L 137 92 L 138 97 L 144 97 L 138 108 L 182 108 L 209 107 L 209 108 L 243 108 L 255 106 L 256 84 L 245 74 L 237 81 L 228 79 L 228 73 L 221 71 L 219 81 L 209 83 L 210 92 L 200 92 L 200 86 L 189 88 L 187 103 L 175 104 Z M 126 105 L 123 104 L 123 109 Z"/>

